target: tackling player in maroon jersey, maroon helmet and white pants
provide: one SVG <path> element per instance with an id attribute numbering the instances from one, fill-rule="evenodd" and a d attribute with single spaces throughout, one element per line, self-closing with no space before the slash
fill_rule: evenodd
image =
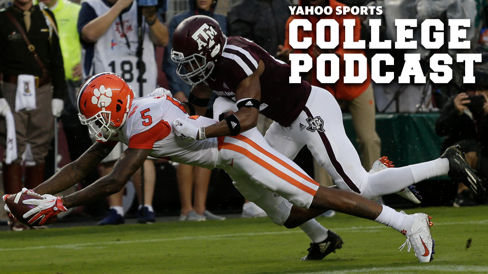
<path id="1" fill-rule="evenodd" d="M 212 91 L 231 98 L 238 108 L 221 122 L 207 127 L 175 124 L 173 130 L 180 139 L 193 141 L 238 135 L 255 127 L 261 113 L 274 121 L 265 135 L 273 149 L 293 159 L 307 145 L 341 189 L 374 199 L 430 177 L 449 175 L 468 184 L 478 195 L 485 194 L 474 170 L 455 148 L 433 161 L 368 174 L 347 138 L 341 109 L 330 92 L 306 81 L 290 84 L 290 66 L 252 41 L 225 37 L 219 23 L 210 17 L 197 15 L 182 21 L 174 31 L 171 52 L 177 74 L 193 85 L 188 101 L 197 114 L 206 110 Z M 475 181 L 470 184 L 468 178 L 475 178 Z M 298 210 L 298 207 L 291 207 L 291 213 Z M 383 210 L 387 215 L 388 210 Z M 303 219 L 287 220 L 284 225 L 307 224 L 323 212 L 316 212 L 314 216 L 302 214 Z M 327 238 L 323 240 L 327 241 Z M 309 251 L 320 250 L 319 245 L 313 242 Z"/>

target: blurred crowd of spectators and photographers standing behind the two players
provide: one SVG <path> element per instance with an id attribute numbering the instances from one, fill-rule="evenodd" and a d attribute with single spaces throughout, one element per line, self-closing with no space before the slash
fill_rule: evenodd
<path id="1" fill-rule="evenodd" d="M 293 15 L 289 6 L 382 6 L 383 15 Z M 146 96 L 157 87 L 165 87 L 173 98 L 187 101 L 191 86 L 179 79 L 176 65 L 170 58 L 172 36 L 176 26 L 193 15 L 207 15 L 217 20 L 226 36 L 241 36 L 261 46 L 276 59 L 289 62 L 290 53 L 307 53 L 313 68 L 302 77 L 312 85 L 328 90 L 344 112 L 352 118 L 361 163 L 370 170 L 380 158 L 381 140 L 376 131 L 377 113 L 438 113 L 435 131 L 444 138 L 442 151 L 454 144 L 461 146 L 469 164 L 479 176 L 488 178 L 485 165 L 485 143 L 488 142 L 488 18 L 484 0 L 0 0 L 0 146 L 4 193 L 17 193 L 22 187 L 33 189 L 57 169 L 76 160 L 95 142 L 88 128 L 78 119 L 77 92 L 84 80 L 100 72 L 113 72 L 131 85 L 136 96 Z M 471 53 L 482 55 L 474 68 L 475 84 L 463 84 L 464 67 L 453 62 L 453 79 L 448 84 L 389 84 L 367 79 L 361 84 L 345 84 L 345 53 L 364 54 L 368 60 L 376 53 L 389 53 L 394 66 L 380 67 L 401 74 L 403 54 L 420 53 L 422 70 L 429 72 L 429 57 L 434 53 L 455 53 L 447 47 L 426 50 L 420 43 L 413 50 L 373 50 L 369 19 L 381 19 L 380 41 L 396 40 L 394 19 L 471 19 L 467 39 Z M 288 26 L 293 19 L 309 19 L 312 31 L 298 31 L 298 40 L 310 37 L 313 44 L 304 50 L 289 44 Z M 321 49 L 316 43 L 315 27 L 320 19 L 335 19 L 344 31 L 343 19 L 354 19 L 354 41 L 365 40 L 367 47 Z M 418 24 L 419 25 L 419 24 Z M 447 29 L 447 27 L 446 27 Z M 325 37 L 330 36 L 325 29 Z M 340 36 L 344 39 L 344 36 Z M 414 38 L 420 28 L 414 29 Z M 420 40 L 420 39 L 417 39 Z M 447 43 L 446 43 L 447 44 Z M 466 52 L 466 51 L 465 51 Z M 317 80 L 317 57 L 335 53 L 340 58 L 340 80 L 322 84 Z M 326 64 L 326 75 L 330 66 Z M 354 66 L 355 75 L 358 64 Z M 109 92 L 100 89 L 101 94 Z M 215 99 L 215 98 L 214 98 Z M 95 104 L 95 103 L 94 103 Z M 209 105 L 211 106 L 211 104 Z M 207 114 L 211 115 L 209 107 Z M 211 116 L 209 116 L 211 117 Z M 270 120 L 260 116 L 258 128 L 267 130 Z M 62 151 L 60 148 L 66 148 Z M 86 179 L 73 186 L 72 192 L 86 187 L 109 174 L 113 164 L 126 149 L 121 144 L 105 158 Z M 156 165 L 176 168 L 176 182 L 157 176 Z M 157 184 L 177 184 L 180 221 L 223 220 L 206 209 L 212 170 L 185 164 L 171 164 L 163 159 L 148 158 L 126 188 L 107 201 L 67 212 L 98 218 L 100 225 L 125 222 L 125 215 L 137 197 L 136 217 L 139 223 L 155 222 L 153 198 Z M 307 170 L 307 168 L 305 168 Z M 325 186 L 333 184 L 325 170 L 313 163 L 315 180 Z M 216 171 L 218 172 L 218 171 Z M 69 193 L 66 193 L 69 194 Z M 126 200 L 129 200 L 127 202 Z M 381 202 L 381 201 L 379 201 Z M 460 184 L 452 201 L 456 207 L 476 205 L 470 190 Z M 252 202 L 242 198 L 243 217 L 264 217 L 266 214 Z M 101 210 L 102 209 L 102 210 Z M 222 211 L 222 212 L 225 212 Z M 328 212 L 325 216 L 333 216 Z M 101 218 L 101 217 L 100 217 Z M 99 218 L 99 219 L 100 219 Z M 2 218 L 0 218 L 2 219 Z M 10 218 L 12 230 L 25 226 Z"/>

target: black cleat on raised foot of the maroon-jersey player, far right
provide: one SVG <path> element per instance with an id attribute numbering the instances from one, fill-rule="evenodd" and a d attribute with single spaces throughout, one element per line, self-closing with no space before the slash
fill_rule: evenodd
<path id="1" fill-rule="evenodd" d="M 476 176 L 476 171 L 466 162 L 464 152 L 460 150 L 459 145 L 451 146 L 446 149 L 441 158 L 449 160 L 449 173 L 451 179 L 465 184 L 478 199 L 483 199 L 486 195 L 486 189 L 482 181 Z"/>

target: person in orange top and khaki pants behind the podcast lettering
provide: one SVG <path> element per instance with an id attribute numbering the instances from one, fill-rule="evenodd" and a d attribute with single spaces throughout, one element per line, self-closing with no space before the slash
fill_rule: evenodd
<path id="1" fill-rule="evenodd" d="M 337 7 L 344 7 L 346 5 L 341 4 L 335 0 L 316 0 L 310 2 L 314 7 L 317 6 L 330 6 L 332 10 L 336 10 Z M 347 14 L 337 15 L 333 12 L 330 15 L 292 15 L 288 19 L 288 24 L 293 19 L 308 19 L 312 23 L 311 31 L 298 31 L 298 41 L 302 41 L 304 37 L 312 38 L 312 45 L 308 48 L 308 53 L 313 58 L 312 74 L 309 75 L 309 81 L 312 85 L 324 88 L 328 90 L 339 101 L 340 105 L 346 105 L 349 108 L 352 116 L 352 122 L 354 130 L 356 131 L 356 142 L 359 145 L 359 155 L 361 157 L 361 164 L 369 170 L 373 163 L 380 158 L 381 154 L 381 140 L 376 133 L 376 120 L 375 120 L 375 99 L 373 95 L 373 88 L 371 86 L 371 74 L 368 67 L 367 78 L 360 84 L 345 84 L 344 76 L 346 75 L 346 67 L 344 61 L 344 53 L 359 53 L 364 55 L 364 51 L 361 49 L 344 49 L 343 43 L 345 42 L 345 27 L 342 24 L 344 19 L 354 19 L 354 34 L 353 41 L 357 42 L 361 36 L 361 21 L 358 16 Z M 320 19 L 334 19 L 339 23 L 339 45 L 335 49 L 321 49 L 316 45 L 316 24 Z M 288 27 L 287 24 L 287 27 Z M 279 57 L 284 61 L 288 61 L 288 56 L 292 52 L 292 47 L 289 43 L 289 32 L 286 32 L 286 40 L 284 49 L 280 51 Z M 325 28 L 325 40 L 328 41 L 330 37 L 330 28 Z M 302 50 L 294 50 L 294 53 L 301 53 Z M 317 80 L 317 57 L 321 53 L 335 53 L 339 61 L 339 80 L 334 84 L 322 84 Z M 359 64 L 354 62 L 354 75 L 359 74 Z M 330 75 L 330 62 L 325 63 L 325 75 Z M 310 78 L 311 77 L 311 78 Z M 341 102 L 343 104 L 341 104 Z"/>

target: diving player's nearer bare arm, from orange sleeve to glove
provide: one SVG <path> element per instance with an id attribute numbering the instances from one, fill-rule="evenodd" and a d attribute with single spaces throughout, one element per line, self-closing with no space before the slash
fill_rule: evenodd
<path id="1" fill-rule="evenodd" d="M 98 201 L 119 192 L 146 160 L 150 149 L 128 148 L 120 155 L 112 172 L 86 188 L 64 197 L 67 208 Z"/>

